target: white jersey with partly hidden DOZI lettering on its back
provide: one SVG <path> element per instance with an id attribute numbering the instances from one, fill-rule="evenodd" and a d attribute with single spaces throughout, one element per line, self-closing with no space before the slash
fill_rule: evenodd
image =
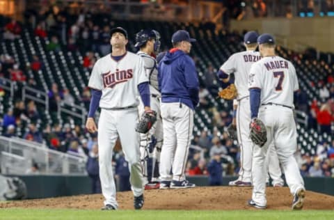
<path id="1" fill-rule="evenodd" d="M 250 66 L 256 61 L 260 61 L 260 59 L 259 52 L 239 52 L 230 56 L 228 61 L 221 66 L 221 71 L 226 74 L 234 72 L 234 84 L 237 87 L 239 99 L 249 95 L 247 83 Z"/>

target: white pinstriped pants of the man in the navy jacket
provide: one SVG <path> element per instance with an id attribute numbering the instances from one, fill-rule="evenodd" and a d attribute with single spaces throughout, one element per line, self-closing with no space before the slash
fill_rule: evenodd
<path id="1" fill-rule="evenodd" d="M 179 102 L 161 103 L 161 117 L 164 143 L 160 157 L 160 179 L 182 181 L 193 133 L 193 110 Z"/>

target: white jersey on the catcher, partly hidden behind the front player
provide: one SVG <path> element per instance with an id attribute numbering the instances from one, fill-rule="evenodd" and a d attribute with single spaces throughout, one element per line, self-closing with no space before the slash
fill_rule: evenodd
<path id="1" fill-rule="evenodd" d="M 146 54 L 145 52 L 139 51 L 137 53 L 141 58 L 143 58 L 144 67 L 146 70 L 146 75 L 150 82 L 150 92 L 154 95 L 160 95 L 158 86 L 158 64 L 155 58 Z"/>

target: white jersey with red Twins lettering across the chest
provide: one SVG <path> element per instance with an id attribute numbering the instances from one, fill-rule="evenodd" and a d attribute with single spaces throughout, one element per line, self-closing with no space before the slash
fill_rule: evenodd
<path id="1" fill-rule="evenodd" d="M 94 65 L 88 87 L 102 91 L 100 108 L 117 109 L 136 107 L 139 102 L 138 84 L 148 81 L 143 59 L 127 52 L 119 61 L 111 54 L 100 58 Z"/>

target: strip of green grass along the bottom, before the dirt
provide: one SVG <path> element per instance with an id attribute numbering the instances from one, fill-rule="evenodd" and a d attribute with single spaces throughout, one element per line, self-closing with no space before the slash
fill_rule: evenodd
<path id="1" fill-rule="evenodd" d="M 100 211 L 100 210 L 31 210 L 31 209 L 2 209 L 0 210 L 0 219 L 19 219 L 19 220 L 63 220 L 63 219 L 200 219 L 200 220 L 217 220 L 217 219 L 248 219 L 248 220 L 267 220 L 267 219 L 334 219 L 334 211 L 271 211 L 271 210 L 252 210 L 252 211 L 166 211 L 166 210 L 118 210 L 118 211 Z"/>

